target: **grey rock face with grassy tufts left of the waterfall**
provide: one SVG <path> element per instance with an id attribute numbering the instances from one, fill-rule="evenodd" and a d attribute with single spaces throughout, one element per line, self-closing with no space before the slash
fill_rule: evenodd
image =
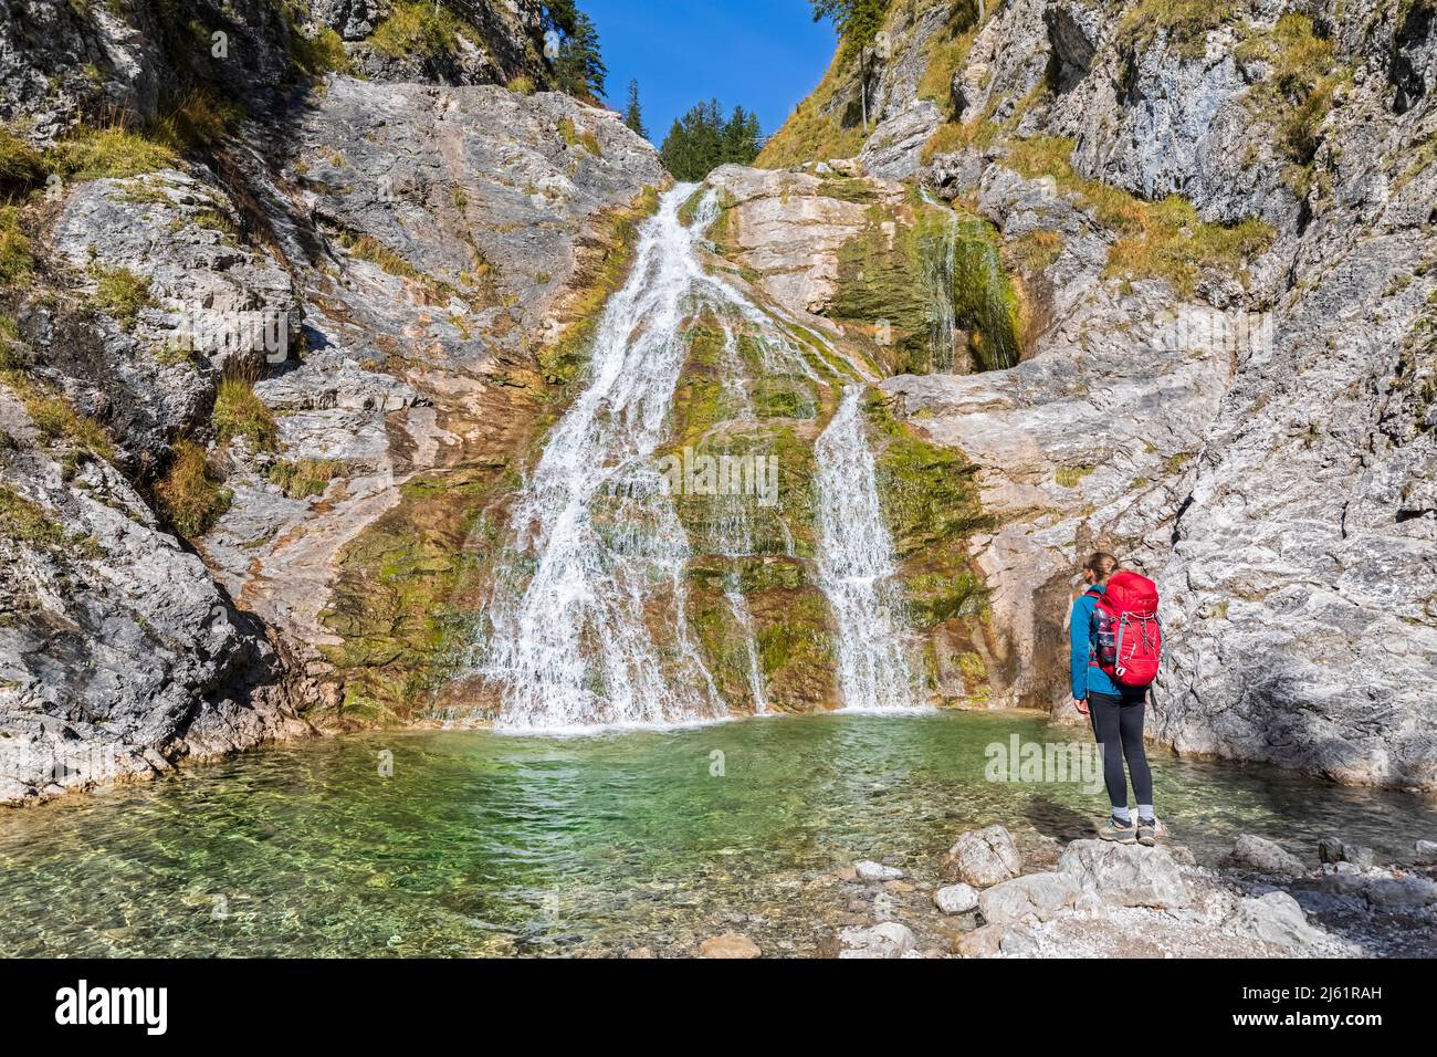
<path id="1" fill-rule="evenodd" d="M 3 188 L 33 194 L 0 290 L 0 801 L 411 715 L 667 180 L 612 112 L 493 86 L 549 82 L 530 0 L 467 4 L 438 62 L 385 52 L 382 0 L 226 4 L 243 63 L 172 7 L 0 12 L 6 135 L 63 173 Z"/>

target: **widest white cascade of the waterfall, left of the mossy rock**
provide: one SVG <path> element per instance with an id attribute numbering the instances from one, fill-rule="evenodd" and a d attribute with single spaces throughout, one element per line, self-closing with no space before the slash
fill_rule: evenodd
<path id="1" fill-rule="evenodd" d="M 693 194 L 665 193 L 609 298 L 591 381 L 519 495 L 481 672 L 500 726 L 553 729 L 713 719 L 726 713 L 684 613 L 690 545 L 654 463 L 687 355 L 684 321 L 704 282 Z M 527 582 L 526 582 L 526 574 Z"/>

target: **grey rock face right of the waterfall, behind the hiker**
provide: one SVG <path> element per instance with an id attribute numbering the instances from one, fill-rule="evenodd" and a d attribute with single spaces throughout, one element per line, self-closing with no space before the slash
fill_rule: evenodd
<path id="1" fill-rule="evenodd" d="M 1165 600 L 1152 735 L 1437 787 L 1430 4 L 993 7 L 894 14 L 868 137 L 856 68 L 815 102 L 858 157 L 987 217 L 1022 288 L 1017 368 L 884 383 L 981 467 L 997 699 L 1066 699 L 1073 572 L 1102 546 Z M 1244 229 L 1266 234 L 1227 265 L 1201 249 Z"/>

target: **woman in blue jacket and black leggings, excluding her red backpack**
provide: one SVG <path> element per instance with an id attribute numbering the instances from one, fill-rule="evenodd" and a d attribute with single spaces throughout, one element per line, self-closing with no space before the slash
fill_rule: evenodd
<path id="1" fill-rule="evenodd" d="M 1083 567 L 1088 588 L 1073 600 L 1069 637 L 1072 639 L 1073 705 L 1092 720 L 1092 732 L 1102 746 L 1102 777 L 1112 801 L 1112 817 L 1098 830 L 1104 840 L 1124 844 L 1157 843 L 1157 815 L 1152 813 L 1152 771 L 1142 751 L 1142 712 L 1147 687 L 1118 686 L 1098 666 L 1098 621 L 1094 618 L 1098 598 L 1108 590 L 1108 581 L 1118 571 L 1118 559 L 1099 551 Z M 1128 810 L 1128 779 L 1122 761 L 1132 775 L 1132 791 L 1138 798 L 1134 824 Z"/>

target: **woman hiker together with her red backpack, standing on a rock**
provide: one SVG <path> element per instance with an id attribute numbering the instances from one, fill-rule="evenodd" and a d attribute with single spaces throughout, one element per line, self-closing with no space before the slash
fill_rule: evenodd
<path id="1" fill-rule="evenodd" d="M 1119 571 L 1118 559 L 1104 551 L 1088 558 L 1082 577 L 1088 587 L 1073 598 L 1069 626 L 1072 690 L 1073 705 L 1092 720 L 1092 733 L 1102 745 L 1102 777 L 1112 801 L 1112 817 L 1098 836 L 1151 847 L 1158 823 L 1152 771 L 1142 749 L 1142 713 L 1163 649 L 1157 587 L 1137 572 Z M 1137 824 L 1128 810 L 1124 761 L 1138 798 Z"/>

